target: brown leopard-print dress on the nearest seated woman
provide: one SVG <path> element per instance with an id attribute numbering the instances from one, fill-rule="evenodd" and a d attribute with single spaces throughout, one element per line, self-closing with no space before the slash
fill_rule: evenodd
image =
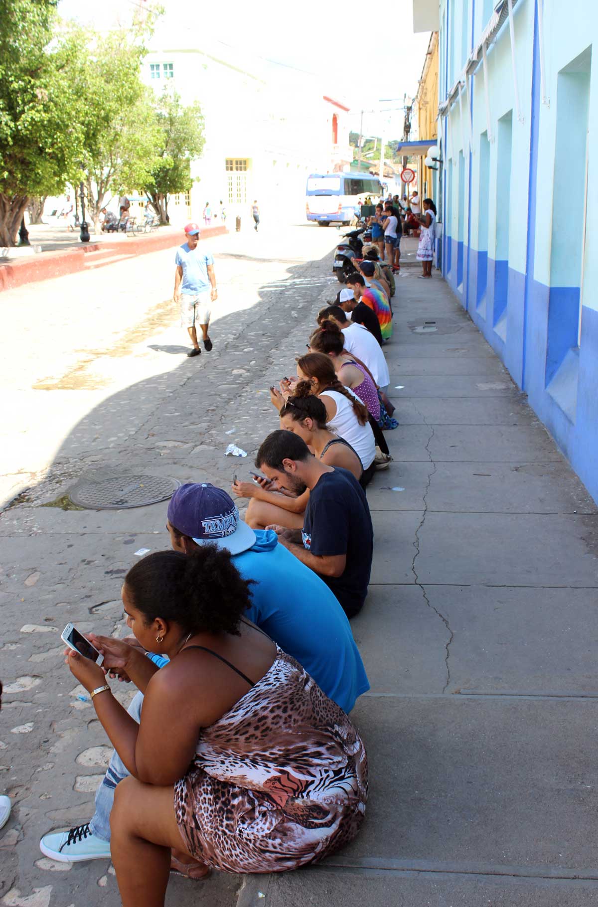
<path id="1" fill-rule="evenodd" d="M 276 873 L 355 837 L 367 792 L 358 732 L 278 649 L 258 683 L 203 729 L 174 800 L 197 859 L 229 873 Z"/>

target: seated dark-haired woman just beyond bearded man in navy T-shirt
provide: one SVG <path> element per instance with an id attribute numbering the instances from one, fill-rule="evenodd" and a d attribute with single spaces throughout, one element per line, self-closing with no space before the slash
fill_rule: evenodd
<path id="1" fill-rule="evenodd" d="M 303 395 L 299 396 L 301 389 Z M 299 434 L 322 463 L 348 469 L 364 488 L 368 479 L 363 478 L 363 466 L 358 454 L 348 441 L 328 429 L 327 420 L 326 406 L 319 397 L 311 394 L 310 385 L 307 382 L 294 385 L 293 396 L 289 396 L 280 410 L 280 428 Z M 253 529 L 264 529 L 270 523 L 279 523 L 288 529 L 300 529 L 303 525 L 309 491 L 299 494 L 299 497 L 272 492 L 269 480 L 263 477 L 255 482 L 237 480 L 232 485 L 232 491 L 240 498 L 250 498 L 245 520 Z"/>

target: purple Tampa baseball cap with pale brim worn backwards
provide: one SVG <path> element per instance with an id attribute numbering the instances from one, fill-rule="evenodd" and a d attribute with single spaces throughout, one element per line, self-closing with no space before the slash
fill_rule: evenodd
<path id="1" fill-rule="evenodd" d="M 230 494 L 209 482 L 177 488 L 168 505 L 168 522 L 198 545 L 218 545 L 231 554 L 247 551 L 256 541 Z"/>

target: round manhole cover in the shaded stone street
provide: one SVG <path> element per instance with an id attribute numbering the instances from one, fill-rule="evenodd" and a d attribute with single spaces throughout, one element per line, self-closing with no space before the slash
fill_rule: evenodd
<path id="1" fill-rule="evenodd" d="M 74 504 L 87 510 L 125 510 L 168 501 L 181 483 L 161 475 L 114 475 L 84 481 L 69 493 Z"/>

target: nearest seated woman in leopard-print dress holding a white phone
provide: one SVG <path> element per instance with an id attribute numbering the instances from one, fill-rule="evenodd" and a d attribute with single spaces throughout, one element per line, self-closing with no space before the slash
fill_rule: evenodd
<path id="1" fill-rule="evenodd" d="M 229 519 L 204 529 L 232 528 Z M 348 844 L 368 797 L 365 747 L 295 658 L 245 619 L 250 580 L 229 551 L 157 551 L 123 581 L 122 639 L 89 639 L 144 693 L 137 724 L 103 669 L 65 650 L 131 775 L 116 788 L 111 856 L 123 907 L 163 907 L 172 851 L 195 877 L 283 872 Z M 155 643 L 154 643 L 155 640 Z"/>

